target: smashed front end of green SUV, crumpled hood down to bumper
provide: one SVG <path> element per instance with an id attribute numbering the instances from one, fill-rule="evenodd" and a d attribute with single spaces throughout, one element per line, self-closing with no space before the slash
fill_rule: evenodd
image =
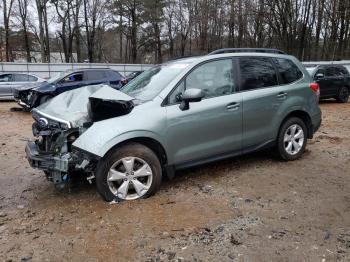
<path id="1" fill-rule="evenodd" d="M 34 109 L 35 141 L 26 145 L 33 168 L 43 170 L 57 186 L 65 185 L 76 173 L 90 181 L 99 157 L 72 146 L 94 122 L 128 114 L 133 98 L 105 85 L 65 92 Z"/>

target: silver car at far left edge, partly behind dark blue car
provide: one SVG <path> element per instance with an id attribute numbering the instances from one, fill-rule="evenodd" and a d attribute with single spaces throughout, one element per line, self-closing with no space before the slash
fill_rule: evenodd
<path id="1" fill-rule="evenodd" d="M 12 100 L 13 89 L 44 82 L 45 79 L 32 74 L 0 73 L 0 100 Z"/>

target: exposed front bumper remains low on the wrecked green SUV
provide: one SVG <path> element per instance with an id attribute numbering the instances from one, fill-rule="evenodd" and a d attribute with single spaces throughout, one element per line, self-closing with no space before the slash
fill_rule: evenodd
<path id="1" fill-rule="evenodd" d="M 32 168 L 58 173 L 68 173 L 71 156 L 69 153 L 57 157 L 40 151 L 35 142 L 26 145 L 26 156 Z"/>

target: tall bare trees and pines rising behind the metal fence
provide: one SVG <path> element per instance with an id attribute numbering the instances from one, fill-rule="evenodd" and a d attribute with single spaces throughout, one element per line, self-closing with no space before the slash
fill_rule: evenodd
<path id="1" fill-rule="evenodd" d="M 2 0 L 5 60 L 162 63 L 225 47 L 278 48 L 299 59 L 350 58 L 344 0 Z"/>

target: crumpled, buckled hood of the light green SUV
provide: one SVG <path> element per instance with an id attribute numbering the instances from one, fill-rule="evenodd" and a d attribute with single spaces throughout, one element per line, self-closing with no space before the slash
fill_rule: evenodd
<path id="1" fill-rule="evenodd" d="M 58 121 L 69 122 L 71 127 L 79 127 L 92 121 L 89 115 L 90 98 L 99 101 L 114 101 L 115 103 L 134 100 L 133 97 L 108 85 L 93 85 L 64 92 L 33 109 L 33 111 L 49 118 L 55 118 Z"/>

